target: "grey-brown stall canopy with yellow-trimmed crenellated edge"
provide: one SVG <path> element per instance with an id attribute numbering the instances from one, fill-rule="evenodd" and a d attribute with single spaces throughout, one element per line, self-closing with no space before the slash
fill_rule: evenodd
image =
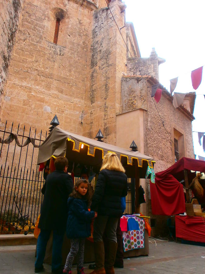
<path id="1" fill-rule="evenodd" d="M 38 164 L 46 162 L 51 156 L 66 156 L 69 164 L 80 163 L 92 166 L 96 172 L 100 169 L 102 159 L 107 152 L 118 155 L 128 177 L 135 177 L 135 169 L 137 169 L 139 176 L 145 178 L 148 165 L 153 167 L 155 163 L 152 157 L 138 151 L 123 149 L 55 127 L 39 147 Z"/>

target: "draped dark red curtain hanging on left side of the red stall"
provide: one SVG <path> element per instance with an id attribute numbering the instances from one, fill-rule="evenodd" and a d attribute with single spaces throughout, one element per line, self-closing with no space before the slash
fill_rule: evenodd
<path id="1" fill-rule="evenodd" d="M 173 175 L 163 179 L 157 176 L 155 184 L 150 181 L 152 213 L 155 215 L 176 215 L 185 212 L 183 185 Z"/>

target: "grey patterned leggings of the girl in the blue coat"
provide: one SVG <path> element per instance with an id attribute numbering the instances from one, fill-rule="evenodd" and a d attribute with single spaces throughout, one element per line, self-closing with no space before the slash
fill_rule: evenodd
<path id="1" fill-rule="evenodd" d="M 73 260 L 77 253 L 77 268 L 81 269 L 83 267 L 84 261 L 85 239 L 70 239 L 70 244 L 71 248 L 70 252 L 68 253 L 64 269 L 71 270 Z"/>

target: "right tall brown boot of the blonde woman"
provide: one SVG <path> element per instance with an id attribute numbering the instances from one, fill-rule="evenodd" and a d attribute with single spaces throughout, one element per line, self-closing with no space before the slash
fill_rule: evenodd
<path id="1" fill-rule="evenodd" d="M 108 241 L 108 254 L 107 254 L 108 260 L 106 261 L 106 265 L 105 265 L 106 274 L 114 274 L 113 266 L 114 266 L 117 248 L 118 248 L 118 243 L 110 240 Z"/>

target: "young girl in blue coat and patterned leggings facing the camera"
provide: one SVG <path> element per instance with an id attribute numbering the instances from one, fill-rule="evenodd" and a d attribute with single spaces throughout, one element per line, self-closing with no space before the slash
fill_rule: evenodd
<path id="1" fill-rule="evenodd" d="M 92 198 L 92 190 L 86 179 L 77 181 L 73 192 L 68 198 L 68 219 L 66 234 L 70 239 L 71 248 L 66 259 L 63 273 L 70 274 L 75 255 L 77 258 L 77 273 L 84 274 L 85 238 L 91 236 L 91 219 L 97 217 L 97 212 L 88 211 L 87 205 Z"/>

